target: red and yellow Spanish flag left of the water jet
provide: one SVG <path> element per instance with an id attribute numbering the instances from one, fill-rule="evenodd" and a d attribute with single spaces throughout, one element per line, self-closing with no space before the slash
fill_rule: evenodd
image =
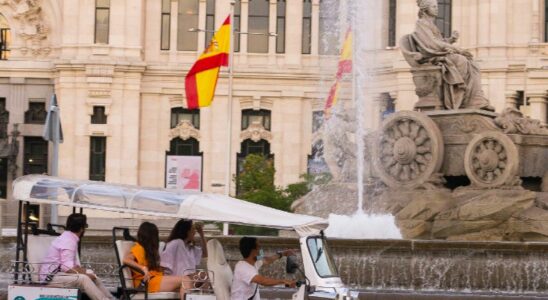
<path id="1" fill-rule="evenodd" d="M 211 105 L 221 66 L 228 66 L 230 52 L 230 16 L 213 35 L 207 49 L 200 55 L 185 78 L 188 109 Z"/>

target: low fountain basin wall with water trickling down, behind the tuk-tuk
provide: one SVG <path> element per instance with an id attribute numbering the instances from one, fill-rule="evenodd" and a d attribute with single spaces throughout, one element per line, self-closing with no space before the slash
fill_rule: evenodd
<path id="1" fill-rule="evenodd" d="M 216 238 L 232 264 L 240 259 L 239 237 Z M 266 253 L 273 253 L 297 248 L 298 240 L 264 237 L 261 245 Z M 330 239 L 329 245 L 343 282 L 356 289 L 388 294 L 481 293 L 525 298 L 548 292 L 548 243 Z M 15 241 L 3 238 L 0 246 L 0 290 L 6 291 Z M 108 237 L 86 237 L 82 261 L 107 263 L 94 268 L 107 282 L 117 282 L 115 254 Z M 281 260 L 262 272 L 285 276 L 283 270 Z"/>

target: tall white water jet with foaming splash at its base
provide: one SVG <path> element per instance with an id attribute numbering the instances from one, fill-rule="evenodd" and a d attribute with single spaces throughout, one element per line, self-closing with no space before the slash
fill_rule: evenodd
<path id="1" fill-rule="evenodd" d="M 365 134 L 366 127 L 372 128 L 373 111 L 370 110 L 375 92 L 375 67 L 378 65 L 374 55 L 379 48 L 378 32 L 372 30 L 381 23 L 382 5 L 378 0 L 335 1 L 323 2 L 324 7 L 330 7 L 330 12 L 339 12 L 339 18 L 327 27 L 329 31 L 346 32 L 352 28 L 352 100 L 356 113 L 356 185 L 358 201 L 356 212 L 351 216 L 329 216 L 330 226 L 326 235 L 330 237 L 350 239 L 401 239 L 401 233 L 395 225 L 392 215 L 366 214 L 367 203 L 364 202 L 364 165 L 365 165 Z M 369 30 L 363 30 L 368 28 Z M 329 42 L 326 38 L 324 42 Z M 367 109 L 366 109 L 367 108 Z M 366 121 L 368 124 L 366 124 Z M 369 173 L 369 172 L 368 172 Z M 350 200 L 350 199 L 348 199 Z"/>

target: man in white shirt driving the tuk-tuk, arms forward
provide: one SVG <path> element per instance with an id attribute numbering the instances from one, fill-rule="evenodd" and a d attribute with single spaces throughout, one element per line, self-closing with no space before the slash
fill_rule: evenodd
<path id="1" fill-rule="evenodd" d="M 263 257 L 263 250 L 254 237 L 243 237 L 240 240 L 240 253 L 244 257 L 234 268 L 231 300 L 260 300 L 259 285 L 286 285 L 295 287 L 295 281 L 289 279 L 268 278 L 259 274 L 259 268 L 269 265 L 282 256 L 292 255 L 291 250 L 278 252 L 269 257 Z"/>

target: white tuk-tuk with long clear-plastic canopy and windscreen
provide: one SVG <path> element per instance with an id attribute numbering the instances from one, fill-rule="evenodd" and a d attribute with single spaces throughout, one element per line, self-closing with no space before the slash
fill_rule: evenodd
<path id="1" fill-rule="evenodd" d="M 44 175 L 17 178 L 13 183 L 13 199 L 19 201 L 19 214 L 14 281 L 8 287 L 9 300 L 82 297 L 78 289 L 49 287 L 46 282 L 40 282 L 37 266 L 41 263 L 49 243 L 58 233 L 49 224 L 45 230 L 36 228 L 29 220 L 28 211 L 24 211 L 25 207 L 28 210 L 31 203 L 72 207 L 73 211 L 79 209 L 80 212 L 83 209 L 94 209 L 155 218 L 184 218 L 294 231 L 299 236 L 304 270 L 298 268 L 294 257 L 287 259 L 286 269 L 288 272 L 300 270 L 306 280 L 292 298 L 300 300 L 313 296 L 324 299 L 357 299 L 357 293 L 346 288 L 338 275 L 323 235 L 328 222 L 322 218 L 288 213 L 218 194 L 68 180 Z M 116 232 L 120 229 L 123 232 L 122 240 L 117 239 Z M 131 274 L 122 263 L 123 252 L 128 251 L 130 243 L 133 243 L 129 230 L 113 228 L 113 242 L 119 263 L 119 288 L 122 289 L 122 296 L 131 299 L 170 299 L 169 295 L 156 295 L 166 293 L 147 293 L 146 289 L 133 288 Z M 224 258 L 222 246 L 217 240 L 210 240 L 208 250 L 209 256 L 212 256 L 212 259 L 208 257 L 207 270 L 212 291 L 205 293 L 203 290 L 191 290 L 185 298 L 228 300 L 230 293 L 226 289 L 230 287 L 232 272 Z M 230 274 L 227 275 L 228 273 Z M 178 297 L 178 293 L 173 293 L 172 298 Z"/>

